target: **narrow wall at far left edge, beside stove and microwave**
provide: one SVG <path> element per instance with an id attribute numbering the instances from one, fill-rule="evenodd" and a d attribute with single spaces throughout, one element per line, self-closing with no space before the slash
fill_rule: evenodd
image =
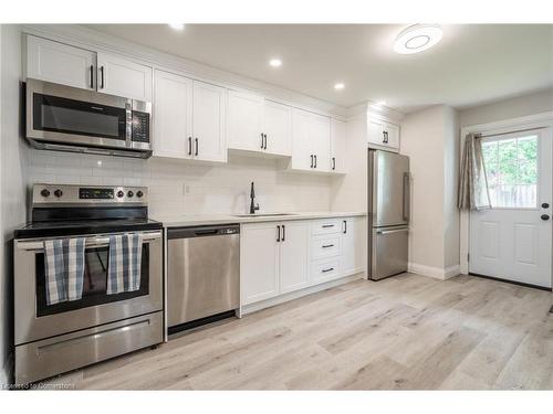
<path id="1" fill-rule="evenodd" d="M 25 221 L 25 164 L 28 148 L 20 136 L 21 32 L 1 25 L 1 226 L 0 233 L 0 383 L 11 370 L 13 229 Z"/>

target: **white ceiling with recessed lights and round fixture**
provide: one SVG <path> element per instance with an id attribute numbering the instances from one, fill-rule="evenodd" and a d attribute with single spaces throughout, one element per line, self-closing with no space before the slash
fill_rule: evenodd
<path id="1" fill-rule="evenodd" d="M 553 86 L 553 24 L 444 25 L 437 46 L 413 55 L 392 50 L 399 24 L 88 26 L 346 107 L 465 108 Z M 269 66 L 271 57 L 282 66 Z M 336 82 L 346 87 L 334 91 Z"/>

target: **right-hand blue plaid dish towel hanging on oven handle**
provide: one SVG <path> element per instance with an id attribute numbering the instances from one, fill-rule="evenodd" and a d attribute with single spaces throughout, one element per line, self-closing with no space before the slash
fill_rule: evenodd
<path id="1" fill-rule="evenodd" d="M 142 234 L 109 236 L 107 295 L 134 291 L 140 288 Z"/>

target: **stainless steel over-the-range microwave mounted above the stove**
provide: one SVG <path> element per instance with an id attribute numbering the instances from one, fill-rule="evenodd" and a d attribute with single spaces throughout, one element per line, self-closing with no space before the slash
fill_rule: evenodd
<path id="1" fill-rule="evenodd" d="M 27 138 L 39 149 L 148 158 L 152 103 L 27 81 Z"/>

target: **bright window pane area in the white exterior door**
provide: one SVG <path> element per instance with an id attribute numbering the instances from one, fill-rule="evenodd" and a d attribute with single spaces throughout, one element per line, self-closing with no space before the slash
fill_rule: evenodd
<path id="1" fill-rule="evenodd" d="M 538 146 L 536 135 L 482 139 L 492 208 L 536 208 Z"/>

